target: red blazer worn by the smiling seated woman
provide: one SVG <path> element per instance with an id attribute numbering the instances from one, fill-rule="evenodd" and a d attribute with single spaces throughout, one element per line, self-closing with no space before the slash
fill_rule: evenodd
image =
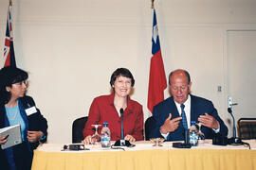
<path id="1" fill-rule="evenodd" d="M 90 107 L 89 117 L 83 128 L 83 137 L 93 135 L 95 130 L 91 125 L 108 123 L 111 131 L 111 141 L 120 139 L 120 117 L 119 112 L 114 106 L 114 93 L 96 97 Z M 144 140 L 143 136 L 143 110 L 142 106 L 136 101 L 127 98 L 127 108 L 123 111 L 123 131 L 124 137 L 129 134 L 137 141 Z M 101 127 L 99 133 L 101 134 Z"/>

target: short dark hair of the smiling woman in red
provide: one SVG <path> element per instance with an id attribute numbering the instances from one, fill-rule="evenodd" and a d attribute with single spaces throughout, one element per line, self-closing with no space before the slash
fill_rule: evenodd
<path id="1" fill-rule="evenodd" d="M 125 76 L 132 79 L 132 87 L 135 85 L 135 78 L 132 75 L 132 73 L 126 69 L 126 68 L 118 68 L 111 76 L 110 78 L 110 85 L 113 86 L 117 77 L 119 76 Z"/>

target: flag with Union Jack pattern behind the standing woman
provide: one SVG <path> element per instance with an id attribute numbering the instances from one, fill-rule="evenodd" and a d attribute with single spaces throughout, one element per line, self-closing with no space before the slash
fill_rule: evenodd
<path id="1" fill-rule="evenodd" d="M 6 31 L 6 42 L 4 48 L 4 60 L 6 66 L 16 67 L 14 47 L 13 47 L 13 30 L 11 22 L 11 3 L 9 4 L 8 18 L 7 18 L 7 31 Z"/>

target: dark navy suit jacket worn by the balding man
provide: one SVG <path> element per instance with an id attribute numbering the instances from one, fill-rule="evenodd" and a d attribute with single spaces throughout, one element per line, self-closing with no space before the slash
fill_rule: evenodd
<path id="1" fill-rule="evenodd" d="M 191 121 L 198 123 L 198 117 L 204 115 L 205 113 L 213 116 L 220 125 L 220 133 L 222 135 L 228 135 L 228 127 L 224 124 L 221 118 L 218 115 L 217 110 L 214 108 L 212 102 L 205 98 L 191 95 Z M 174 103 L 174 97 L 171 96 L 166 100 L 160 102 L 154 107 L 153 117 L 155 119 L 155 125 L 151 129 L 150 138 L 162 137 L 160 133 L 160 127 L 164 124 L 165 120 L 169 116 L 169 113 L 172 113 L 172 118 L 179 117 L 178 110 Z M 206 138 L 212 138 L 214 131 L 209 127 L 201 127 L 202 132 L 205 134 Z M 178 128 L 169 133 L 167 141 L 183 141 L 184 140 L 184 127 L 180 122 Z"/>

